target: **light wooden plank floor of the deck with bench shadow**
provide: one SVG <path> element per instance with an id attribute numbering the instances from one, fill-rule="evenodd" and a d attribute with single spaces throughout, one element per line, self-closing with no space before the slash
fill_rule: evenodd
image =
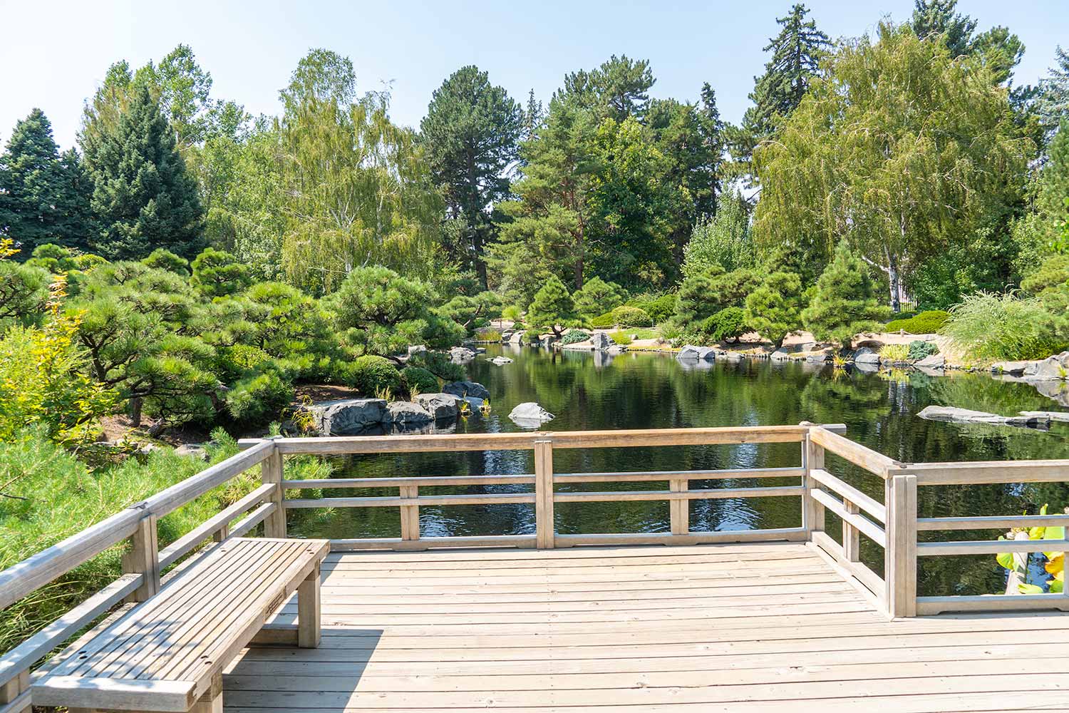
<path id="1" fill-rule="evenodd" d="M 334 553 L 226 710 L 1066 711 L 1069 615 L 892 620 L 814 544 Z M 286 604 L 277 621 L 293 621 Z"/>

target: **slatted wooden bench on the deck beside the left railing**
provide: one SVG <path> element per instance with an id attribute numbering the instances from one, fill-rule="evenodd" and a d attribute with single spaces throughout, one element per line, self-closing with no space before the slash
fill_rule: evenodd
<path id="1" fill-rule="evenodd" d="M 35 706 L 221 713 L 222 669 L 297 591 L 297 644 L 320 645 L 326 540 L 228 540 L 33 684 Z"/>

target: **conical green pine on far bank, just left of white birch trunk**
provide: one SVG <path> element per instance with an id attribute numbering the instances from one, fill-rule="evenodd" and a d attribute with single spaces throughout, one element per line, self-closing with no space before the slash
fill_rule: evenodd
<path id="1" fill-rule="evenodd" d="M 812 301 L 802 312 L 805 328 L 817 339 L 836 341 L 849 350 L 854 335 L 876 331 L 888 316 L 890 309 L 877 301 L 865 263 L 840 241 L 817 280 Z"/>

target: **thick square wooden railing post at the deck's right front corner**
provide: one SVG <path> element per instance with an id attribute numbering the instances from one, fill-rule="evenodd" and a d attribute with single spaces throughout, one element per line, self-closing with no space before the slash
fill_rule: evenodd
<path id="1" fill-rule="evenodd" d="M 894 617 L 917 616 L 917 477 L 888 474 L 887 548 L 884 579 L 887 610 Z"/>

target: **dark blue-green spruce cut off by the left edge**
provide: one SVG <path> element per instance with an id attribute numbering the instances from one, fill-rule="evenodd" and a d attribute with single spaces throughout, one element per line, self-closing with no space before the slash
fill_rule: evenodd
<path id="1" fill-rule="evenodd" d="M 84 248 L 90 223 L 86 182 L 77 152 L 60 156 L 41 109 L 15 125 L 0 155 L 0 235 L 27 258 L 38 245 Z"/>

